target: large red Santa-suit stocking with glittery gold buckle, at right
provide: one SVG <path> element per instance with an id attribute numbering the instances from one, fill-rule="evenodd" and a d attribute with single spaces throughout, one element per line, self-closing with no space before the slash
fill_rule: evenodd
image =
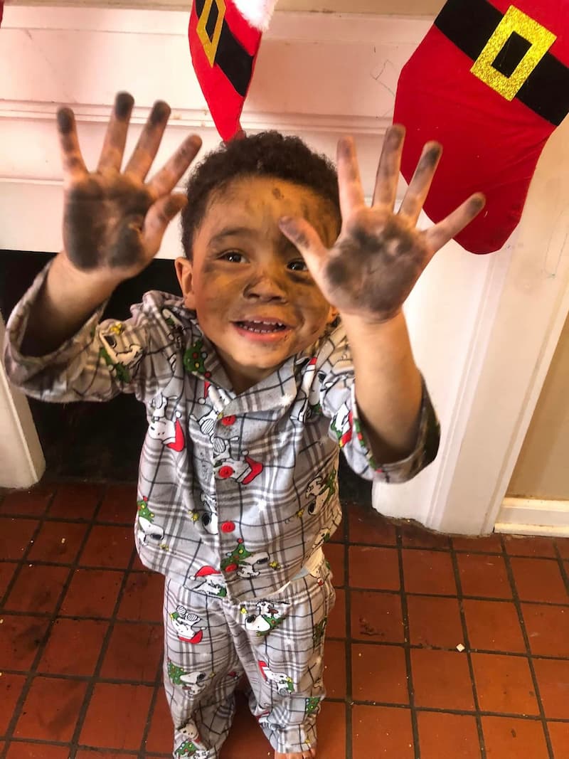
<path id="1" fill-rule="evenodd" d="M 455 239 L 490 253 L 520 221 L 537 159 L 567 112 L 569 0 L 448 0 L 399 77 L 401 172 L 410 181 L 423 143 L 442 143 L 425 212 L 439 222 L 482 191 L 485 209 Z"/>

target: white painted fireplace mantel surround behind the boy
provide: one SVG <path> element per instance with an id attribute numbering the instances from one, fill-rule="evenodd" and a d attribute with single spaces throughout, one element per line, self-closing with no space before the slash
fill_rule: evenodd
<path id="1" fill-rule="evenodd" d="M 341 134 L 354 134 L 371 193 L 398 73 L 429 24 L 419 17 L 277 12 L 262 42 L 244 128 L 294 132 L 331 156 Z M 155 99 L 172 106 L 159 162 L 188 130 L 200 133 L 205 149 L 217 142 L 190 64 L 187 12 L 6 6 L 0 255 L 2 249 L 58 250 L 55 109 L 74 109 L 93 165 L 115 92 L 123 89 L 137 102 L 130 145 Z M 387 515 L 452 533 L 481 534 L 495 525 L 569 310 L 568 126 L 543 153 L 510 243 L 487 257 L 449 244 L 407 303 L 413 348 L 443 437 L 435 463 L 411 483 L 374 487 L 374 505 Z M 174 226 L 160 255 L 174 258 L 178 250 Z M 0 484 L 25 487 L 42 472 L 41 452 L 22 398 L 0 380 Z M 555 531 L 569 534 L 569 513 L 559 513 Z M 530 531 L 547 531 L 547 518 Z"/>

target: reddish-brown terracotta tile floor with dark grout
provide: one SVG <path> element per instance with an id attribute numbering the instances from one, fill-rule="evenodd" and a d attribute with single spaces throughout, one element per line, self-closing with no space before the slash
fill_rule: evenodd
<path id="1" fill-rule="evenodd" d="M 135 556 L 134 498 L 0 493 L 0 759 L 171 757 L 162 578 Z M 567 759 L 569 541 L 345 513 L 319 756 Z M 269 756 L 240 697 L 222 757 Z"/>

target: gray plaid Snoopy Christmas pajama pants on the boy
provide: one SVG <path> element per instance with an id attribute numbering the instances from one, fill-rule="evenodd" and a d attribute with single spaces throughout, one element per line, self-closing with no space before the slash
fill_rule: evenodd
<path id="1" fill-rule="evenodd" d="M 165 582 L 164 682 L 174 757 L 214 759 L 245 672 L 249 706 L 282 753 L 316 745 L 324 631 L 335 601 L 325 561 L 266 598 L 242 603 Z"/>

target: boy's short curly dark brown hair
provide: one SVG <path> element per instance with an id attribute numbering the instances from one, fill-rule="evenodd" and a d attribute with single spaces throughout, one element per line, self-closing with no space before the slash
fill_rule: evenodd
<path id="1" fill-rule="evenodd" d="M 338 175 L 332 162 L 314 153 L 300 137 L 265 131 L 222 143 L 196 165 L 187 181 L 188 203 L 181 213 L 182 246 L 192 255 L 193 236 L 203 221 L 212 195 L 240 177 L 274 177 L 294 182 L 328 201 L 341 223 Z"/>

